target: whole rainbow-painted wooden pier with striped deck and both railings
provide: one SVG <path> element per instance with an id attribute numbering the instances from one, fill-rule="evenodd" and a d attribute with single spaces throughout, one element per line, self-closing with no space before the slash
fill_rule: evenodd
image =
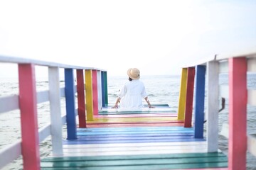
<path id="1" fill-rule="evenodd" d="M 106 70 L 0 56 L 0 62 L 18 65 L 19 89 L 1 96 L 0 113 L 21 114 L 21 140 L 0 150 L 0 168 L 22 156 L 23 169 L 246 169 L 246 152 L 256 156 L 256 139 L 246 129 L 247 104 L 256 105 L 255 90 L 247 90 L 255 57 L 251 50 L 183 67 L 178 113 L 171 113 L 165 103 L 132 111 L 110 108 Z M 46 91 L 36 91 L 37 66 L 48 69 Z M 223 73 L 228 86 L 219 85 Z M 218 148 L 220 98 L 230 104 L 224 129 L 228 155 Z M 44 102 L 50 103 L 50 122 L 38 129 L 37 106 Z M 49 136 L 52 152 L 41 157 L 40 143 Z"/>

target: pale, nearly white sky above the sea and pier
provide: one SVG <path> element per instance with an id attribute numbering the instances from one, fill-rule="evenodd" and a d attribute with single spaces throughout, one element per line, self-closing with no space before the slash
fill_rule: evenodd
<path id="1" fill-rule="evenodd" d="M 0 1 L 0 56 L 97 67 L 110 76 L 130 67 L 180 74 L 184 64 L 256 47 L 255 9 L 254 0 Z"/>

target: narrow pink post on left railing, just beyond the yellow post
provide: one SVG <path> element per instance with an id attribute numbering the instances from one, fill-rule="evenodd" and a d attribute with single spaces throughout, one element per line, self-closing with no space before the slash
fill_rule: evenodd
<path id="1" fill-rule="evenodd" d="M 92 70 L 92 103 L 93 103 L 93 115 L 99 114 L 98 108 L 98 96 L 97 96 L 97 70 Z"/>

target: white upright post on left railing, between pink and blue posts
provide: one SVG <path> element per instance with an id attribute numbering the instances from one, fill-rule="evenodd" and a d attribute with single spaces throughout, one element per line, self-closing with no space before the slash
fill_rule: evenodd
<path id="1" fill-rule="evenodd" d="M 48 67 L 49 101 L 50 101 L 50 134 L 53 154 L 63 154 L 62 120 L 60 106 L 60 76 L 58 67 Z"/>

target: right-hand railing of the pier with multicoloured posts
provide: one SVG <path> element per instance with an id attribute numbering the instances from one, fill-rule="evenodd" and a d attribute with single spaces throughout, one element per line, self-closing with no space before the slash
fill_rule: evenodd
<path id="1" fill-rule="evenodd" d="M 182 67 L 183 72 L 188 72 L 190 68 L 196 69 L 196 91 L 201 91 L 203 96 L 205 92 L 203 87 L 205 84 L 208 84 L 207 91 L 207 107 L 206 107 L 206 116 L 207 116 L 207 125 L 206 125 L 206 138 L 208 142 L 208 152 L 217 152 L 218 151 L 218 107 L 221 97 L 228 98 L 230 100 L 229 107 L 229 125 L 225 125 L 221 135 L 229 138 L 229 168 L 233 169 L 245 169 L 246 167 L 246 151 L 250 152 L 256 157 L 255 148 L 256 148 L 256 137 L 247 136 L 246 132 L 246 107 L 247 104 L 256 106 L 256 89 L 247 89 L 247 73 L 256 72 L 256 47 L 250 47 L 248 49 L 233 52 L 230 54 L 220 54 L 214 55 L 211 57 L 206 57 L 204 60 L 200 60 L 193 64 L 186 64 Z M 201 71 L 203 68 L 205 71 Z M 229 84 L 228 85 L 219 85 L 218 78 L 220 74 L 228 74 Z M 204 77 L 207 76 L 206 81 Z M 191 79 L 192 76 L 183 77 L 181 79 Z M 198 79 L 203 79 L 203 81 L 198 81 Z M 181 81 L 181 84 L 183 81 Z M 184 105 L 185 103 L 190 102 L 188 88 L 191 85 L 186 84 L 185 99 L 183 103 L 179 103 L 179 106 Z M 201 88 L 198 88 L 201 86 Z M 201 90 L 203 89 L 203 90 Z M 193 90 L 192 90 L 193 91 Z M 190 94 L 191 95 L 191 94 Z M 193 95 L 193 92 L 192 92 Z M 181 96 L 180 96 L 181 97 Z M 195 98 L 198 98 L 198 95 L 195 95 Z M 189 102 L 188 102 L 189 101 Z M 201 108 L 201 112 L 204 111 L 204 97 L 201 101 L 195 100 L 196 107 Z M 202 104 L 203 103 L 203 104 Z M 188 106 L 188 109 L 192 107 Z M 186 110 L 186 109 L 185 109 Z M 204 114 L 201 114 L 199 111 L 195 111 L 195 137 L 196 134 L 201 134 L 203 136 L 203 120 Z M 178 117 L 183 117 L 185 111 L 178 113 Z M 192 114 L 189 113 L 189 114 Z M 191 120 L 186 120 L 186 115 L 184 122 L 189 122 Z M 184 125 L 185 126 L 185 125 Z M 227 133 L 230 133 L 229 135 Z"/>

